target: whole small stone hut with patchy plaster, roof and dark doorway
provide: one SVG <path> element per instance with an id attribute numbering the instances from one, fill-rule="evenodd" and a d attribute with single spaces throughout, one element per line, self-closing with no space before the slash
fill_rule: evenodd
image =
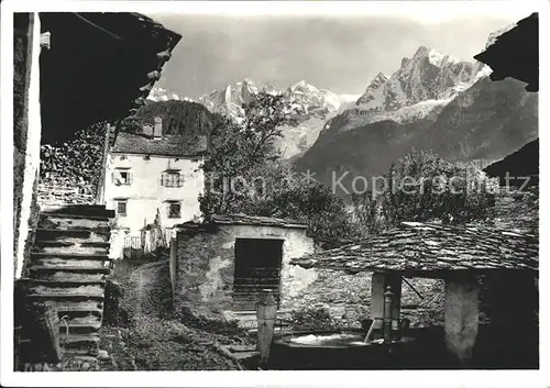
<path id="1" fill-rule="evenodd" d="M 290 258 L 311 252 L 306 225 L 286 220 L 233 214 L 184 223 L 170 244 L 174 304 L 237 315 L 245 324 L 255 321 L 260 292 L 271 289 L 279 310 L 288 310 L 316 276 L 290 266 Z"/>

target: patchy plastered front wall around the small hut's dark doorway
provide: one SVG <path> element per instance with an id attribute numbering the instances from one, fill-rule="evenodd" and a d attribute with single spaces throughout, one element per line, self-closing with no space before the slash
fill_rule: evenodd
<path id="1" fill-rule="evenodd" d="M 293 257 L 312 252 L 314 242 L 304 229 L 258 225 L 217 225 L 211 230 L 177 232 L 177 273 L 174 303 L 189 306 L 202 312 L 224 313 L 231 310 L 237 239 L 283 240 L 280 271 L 280 308 L 287 309 L 294 298 L 315 280 L 315 270 L 292 266 Z"/>

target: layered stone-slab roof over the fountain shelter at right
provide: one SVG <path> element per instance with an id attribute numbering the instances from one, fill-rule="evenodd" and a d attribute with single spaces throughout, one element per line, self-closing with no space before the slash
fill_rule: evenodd
<path id="1" fill-rule="evenodd" d="M 361 242 L 294 258 L 305 268 L 398 270 L 417 276 L 495 269 L 538 271 L 538 239 L 481 226 L 403 222 Z"/>

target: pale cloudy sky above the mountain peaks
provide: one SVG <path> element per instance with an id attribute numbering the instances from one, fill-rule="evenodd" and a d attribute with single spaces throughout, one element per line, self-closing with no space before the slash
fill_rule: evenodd
<path id="1" fill-rule="evenodd" d="M 239 15 L 148 13 L 183 35 L 157 87 L 198 99 L 232 81 L 288 87 L 299 80 L 339 95 L 361 95 L 380 71 L 392 75 L 420 45 L 461 60 L 491 32 L 528 16 Z"/>

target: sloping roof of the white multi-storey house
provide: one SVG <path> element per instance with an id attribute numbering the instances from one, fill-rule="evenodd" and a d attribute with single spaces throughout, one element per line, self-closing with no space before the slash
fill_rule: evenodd
<path id="1" fill-rule="evenodd" d="M 200 135 L 164 135 L 153 138 L 141 134 L 120 132 L 117 135 L 113 153 L 163 155 L 163 156 L 198 156 L 207 151 L 207 138 Z"/>

